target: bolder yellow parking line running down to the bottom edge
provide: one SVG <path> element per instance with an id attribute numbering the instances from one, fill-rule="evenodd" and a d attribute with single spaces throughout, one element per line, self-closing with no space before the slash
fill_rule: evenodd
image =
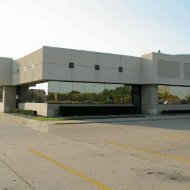
<path id="1" fill-rule="evenodd" d="M 83 179 L 84 181 L 87 181 L 89 182 L 90 184 L 96 186 L 98 189 L 100 190 L 112 190 L 110 187 L 108 187 L 107 185 L 101 183 L 101 182 L 98 182 L 90 177 L 88 177 L 87 175 L 79 172 L 79 171 L 76 171 L 66 165 L 64 165 L 63 163 L 57 161 L 57 160 L 54 160 L 53 158 L 43 154 L 42 152 L 39 152 L 37 150 L 34 150 L 34 149 L 29 149 L 30 152 L 32 152 L 33 154 L 35 154 L 36 156 L 50 162 L 51 164 L 54 164 L 55 166 L 57 166 L 58 168 L 61 168 L 65 171 L 68 171 L 69 173 Z"/>

